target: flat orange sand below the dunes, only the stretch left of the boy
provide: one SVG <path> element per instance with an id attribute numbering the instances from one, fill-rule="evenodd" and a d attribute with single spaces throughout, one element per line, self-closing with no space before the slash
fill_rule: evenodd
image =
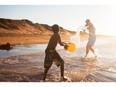
<path id="1" fill-rule="evenodd" d="M 7 36 L 0 37 L 0 44 L 10 43 L 12 45 L 16 44 L 37 44 L 37 43 L 47 43 L 51 35 L 20 35 L 20 36 Z"/>

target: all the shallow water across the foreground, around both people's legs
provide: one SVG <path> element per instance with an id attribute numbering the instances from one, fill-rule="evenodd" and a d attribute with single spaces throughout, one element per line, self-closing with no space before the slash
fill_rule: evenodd
<path id="1" fill-rule="evenodd" d="M 98 54 L 97 61 L 94 61 L 93 56 L 88 56 L 86 61 L 81 61 L 85 55 L 86 43 L 87 41 L 80 42 L 75 52 L 65 51 L 63 47 L 58 45 L 57 50 L 65 61 L 65 75 L 71 78 L 73 82 L 98 81 L 100 78 L 96 77 L 99 76 L 101 76 L 101 81 L 116 81 L 114 78 L 113 80 L 108 79 L 116 76 L 116 38 L 99 39 L 96 41 L 94 47 Z M 0 74 L 0 77 L 7 78 L 8 81 L 19 81 L 17 78 L 23 74 L 24 77 L 21 79 L 28 77 L 26 81 L 40 81 L 43 73 L 44 50 L 46 46 L 47 44 L 16 45 L 10 51 L 1 50 L 0 58 L 4 59 L 4 64 L 2 64 L 2 61 L 0 73 L 11 73 L 12 75 L 8 75 L 8 78 L 8 76 Z M 106 78 L 103 75 L 110 77 Z M 59 76 L 59 69 L 53 65 L 48 73 L 47 81 L 59 81 Z M 16 80 L 11 80 L 12 77 L 16 77 Z M 85 78 L 89 78 L 89 80 L 85 80 Z"/>

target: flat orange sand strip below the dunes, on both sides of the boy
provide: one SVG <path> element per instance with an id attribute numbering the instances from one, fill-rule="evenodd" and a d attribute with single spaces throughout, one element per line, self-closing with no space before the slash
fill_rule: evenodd
<path id="1" fill-rule="evenodd" d="M 48 43 L 52 33 L 42 34 L 42 35 L 4 35 L 0 36 L 0 45 L 10 43 L 12 45 L 16 44 L 43 44 Z M 71 35 L 60 35 L 62 41 L 69 41 Z"/>

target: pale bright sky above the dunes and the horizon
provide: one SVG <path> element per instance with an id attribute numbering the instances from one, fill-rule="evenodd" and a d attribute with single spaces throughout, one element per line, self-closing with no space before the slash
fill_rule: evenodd
<path id="1" fill-rule="evenodd" d="M 0 18 L 58 24 L 71 31 L 90 19 L 97 34 L 115 35 L 116 5 L 0 5 Z"/>

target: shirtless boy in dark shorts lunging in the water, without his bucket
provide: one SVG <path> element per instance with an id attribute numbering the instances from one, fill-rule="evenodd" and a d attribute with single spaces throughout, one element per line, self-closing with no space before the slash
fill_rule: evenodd
<path id="1" fill-rule="evenodd" d="M 44 60 L 44 76 L 43 76 L 43 81 L 45 81 L 46 76 L 47 76 L 47 72 L 50 69 L 52 63 L 54 60 L 57 61 L 57 67 L 60 66 L 60 70 L 61 70 L 61 78 L 63 81 L 66 80 L 66 78 L 64 78 L 64 61 L 63 59 L 60 57 L 60 55 L 57 53 L 56 51 L 56 46 L 59 43 L 61 46 L 65 46 L 66 45 L 64 43 L 61 42 L 61 38 L 60 35 L 58 34 L 59 32 L 59 26 L 57 24 L 52 26 L 52 31 L 54 32 L 54 34 L 51 36 L 48 46 L 45 50 L 45 60 Z"/>

